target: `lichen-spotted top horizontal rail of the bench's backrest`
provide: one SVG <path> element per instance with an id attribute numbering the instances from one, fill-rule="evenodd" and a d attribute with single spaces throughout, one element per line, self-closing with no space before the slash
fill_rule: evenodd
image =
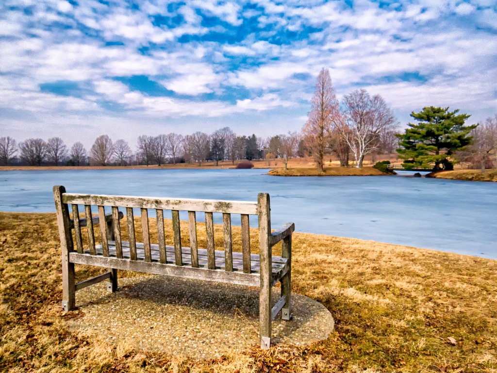
<path id="1" fill-rule="evenodd" d="M 127 195 L 103 195 L 65 193 L 64 203 L 122 206 L 135 208 L 160 208 L 165 210 L 230 212 L 233 214 L 257 214 L 257 204 L 247 201 L 224 201 L 214 199 L 175 199 L 139 197 Z"/>

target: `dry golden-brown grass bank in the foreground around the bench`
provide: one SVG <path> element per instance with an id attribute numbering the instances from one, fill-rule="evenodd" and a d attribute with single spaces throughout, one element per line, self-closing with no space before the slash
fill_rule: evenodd
<path id="1" fill-rule="evenodd" d="M 60 310 L 55 220 L 49 213 L 0 212 L 0 371 L 497 372 L 497 261 L 298 233 L 292 290 L 331 311 L 335 331 L 328 340 L 267 352 L 254 346 L 193 361 L 112 346 L 68 329 L 66 320 L 83 311 Z M 140 230 L 140 220 L 135 223 Z M 122 224 L 125 232 L 125 219 Z M 166 231 L 171 232 L 169 221 Z M 202 231 L 199 245 L 205 245 Z M 240 228 L 233 232 L 239 235 Z M 222 247 L 221 226 L 215 234 Z M 166 240 L 172 242 L 170 233 Z M 251 240 L 256 249 L 255 230 Z M 95 268 L 77 266 L 78 280 L 96 274 Z"/>

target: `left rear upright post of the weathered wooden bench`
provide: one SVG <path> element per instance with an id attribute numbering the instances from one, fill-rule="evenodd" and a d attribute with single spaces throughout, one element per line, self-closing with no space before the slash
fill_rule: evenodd
<path id="1" fill-rule="evenodd" d="M 74 263 L 71 263 L 72 261 L 69 259 L 70 253 L 74 250 L 73 236 L 69 224 L 69 208 L 66 203 L 62 202 L 62 197 L 66 192 L 66 188 L 63 186 L 55 186 L 53 191 L 62 249 L 62 307 L 64 311 L 69 311 L 76 307 Z"/>

